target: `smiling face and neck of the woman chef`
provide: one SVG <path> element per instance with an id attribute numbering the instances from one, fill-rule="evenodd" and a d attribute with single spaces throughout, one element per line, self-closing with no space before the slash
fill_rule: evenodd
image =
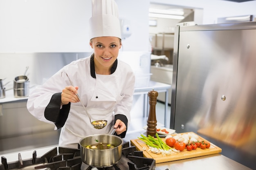
<path id="1" fill-rule="evenodd" d="M 97 37 L 90 41 L 94 49 L 94 64 L 97 74 L 110 74 L 112 64 L 121 48 L 121 40 L 117 37 Z"/>

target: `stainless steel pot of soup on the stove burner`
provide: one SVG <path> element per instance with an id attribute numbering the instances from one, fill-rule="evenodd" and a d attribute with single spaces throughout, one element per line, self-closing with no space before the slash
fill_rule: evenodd
<path id="1" fill-rule="evenodd" d="M 116 147 L 104 150 L 95 150 L 85 148 L 90 144 L 97 142 L 113 144 Z M 81 159 L 89 166 L 98 168 L 110 167 L 120 161 L 122 156 L 123 140 L 115 135 L 90 135 L 80 140 L 81 146 Z"/>

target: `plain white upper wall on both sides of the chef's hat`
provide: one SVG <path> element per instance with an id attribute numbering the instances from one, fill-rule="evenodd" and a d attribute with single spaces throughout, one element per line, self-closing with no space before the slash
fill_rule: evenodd
<path id="1" fill-rule="evenodd" d="M 132 31 L 123 50 L 148 51 L 149 2 L 116 2 Z M 91 51 L 90 17 L 91 0 L 0 0 L 0 53 Z"/>

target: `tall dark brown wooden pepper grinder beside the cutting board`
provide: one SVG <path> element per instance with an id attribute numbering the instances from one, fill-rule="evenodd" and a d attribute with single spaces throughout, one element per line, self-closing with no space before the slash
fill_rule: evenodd
<path id="1" fill-rule="evenodd" d="M 151 135 L 154 136 L 157 133 L 157 119 L 156 119 L 156 114 L 155 114 L 155 105 L 157 104 L 157 96 L 158 93 L 157 91 L 152 91 L 148 92 L 148 97 L 149 97 L 149 114 L 148 114 L 148 123 L 147 123 L 147 136 Z"/>

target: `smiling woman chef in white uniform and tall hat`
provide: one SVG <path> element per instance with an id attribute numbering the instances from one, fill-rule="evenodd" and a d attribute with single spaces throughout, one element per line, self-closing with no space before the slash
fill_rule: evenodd
<path id="1" fill-rule="evenodd" d="M 89 29 L 94 53 L 64 66 L 36 87 L 27 101 L 34 117 L 61 128 L 60 146 L 77 144 L 88 135 L 107 134 L 113 125 L 116 135 L 125 137 L 130 122 L 135 76 L 128 64 L 117 60 L 121 30 L 114 0 L 92 0 Z M 93 128 L 76 93 L 92 121 L 108 121 L 105 128 Z"/>

